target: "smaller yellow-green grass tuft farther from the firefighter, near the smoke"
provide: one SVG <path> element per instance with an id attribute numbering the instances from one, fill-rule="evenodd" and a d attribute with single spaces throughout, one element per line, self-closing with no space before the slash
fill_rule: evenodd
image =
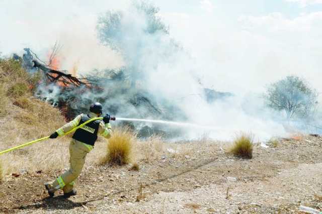
<path id="1" fill-rule="evenodd" d="M 236 156 L 243 158 L 253 157 L 253 139 L 250 135 L 241 134 L 236 137 L 230 152 Z"/>

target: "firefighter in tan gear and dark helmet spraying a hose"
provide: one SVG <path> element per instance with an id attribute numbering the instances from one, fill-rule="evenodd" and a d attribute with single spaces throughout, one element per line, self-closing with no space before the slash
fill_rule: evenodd
<path id="1" fill-rule="evenodd" d="M 63 136 L 66 132 L 72 130 L 91 118 L 100 117 L 102 115 L 102 104 L 95 102 L 90 106 L 90 114 L 78 115 L 74 120 L 57 129 L 49 138 L 54 139 L 58 136 Z M 94 148 L 97 136 L 105 138 L 111 137 L 110 115 L 106 114 L 103 121 L 96 120 L 86 124 L 84 127 L 77 129 L 69 144 L 69 170 L 60 175 L 51 183 L 45 183 L 45 188 L 50 197 L 54 196 L 55 191 L 62 189 L 64 197 L 76 195 L 76 190 L 73 188 L 75 179 L 81 174 L 86 155 Z"/>

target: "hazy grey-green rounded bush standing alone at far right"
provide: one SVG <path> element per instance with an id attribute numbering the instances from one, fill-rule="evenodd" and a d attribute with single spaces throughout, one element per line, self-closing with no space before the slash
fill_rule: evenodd
<path id="1" fill-rule="evenodd" d="M 317 103 L 317 92 L 305 80 L 287 76 L 268 86 L 265 98 L 268 105 L 277 111 L 285 111 L 288 119 L 295 115 L 305 117 Z"/>

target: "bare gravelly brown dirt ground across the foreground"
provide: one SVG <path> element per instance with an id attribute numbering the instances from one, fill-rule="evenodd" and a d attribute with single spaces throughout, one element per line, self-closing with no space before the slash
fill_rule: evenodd
<path id="1" fill-rule="evenodd" d="M 187 143 L 187 147 L 193 142 Z M 257 145 L 253 159 L 200 143 L 189 155 L 164 153 L 130 166 L 86 165 L 69 199 L 43 183 L 61 171 L 20 172 L 0 185 L 1 213 L 300 213 L 322 210 L 322 137 Z M 18 174 L 18 172 L 17 172 Z"/>

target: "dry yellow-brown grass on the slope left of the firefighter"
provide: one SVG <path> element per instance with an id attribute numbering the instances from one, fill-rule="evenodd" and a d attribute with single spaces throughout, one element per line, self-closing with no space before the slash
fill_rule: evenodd
<path id="1" fill-rule="evenodd" d="M 65 123 L 57 109 L 32 96 L 38 79 L 19 62 L 0 59 L 0 151 L 48 136 Z M 3 174 L 66 167 L 68 140 L 47 140 L 1 155 Z"/>

